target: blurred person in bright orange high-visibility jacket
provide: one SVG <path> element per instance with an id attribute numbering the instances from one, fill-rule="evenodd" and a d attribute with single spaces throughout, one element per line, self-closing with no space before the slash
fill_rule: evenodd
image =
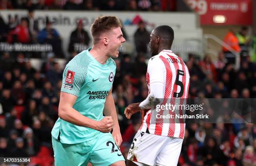
<path id="1" fill-rule="evenodd" d="M 236 37 L 233 30 L 230 30 L 226 36 L 223 39 L 223 42 L 228 44 L 233 50 L 235 50 L 237 53 L 241 51 L 241 48 L 239 46 L 238 38 Z M 230 52 L 229 48 L 222 47 L 225 58 L 227 59 L 228 63 L 235 64 L 236 62 L 236 55 Z"/>

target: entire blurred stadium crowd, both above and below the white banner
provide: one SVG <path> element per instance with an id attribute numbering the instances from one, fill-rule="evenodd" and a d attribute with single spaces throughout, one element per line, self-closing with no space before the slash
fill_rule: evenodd
<path id="1" fill-rule="evenodd" d="M 131 8 L 129 10 L 133 10 L 134 4 L 139 7 L 140 2 L 144 1 L 151 2 L 151 5 L 154 4 L 153 2 L 159 2 L 130 0 L 127 1 Z M 90 8 L 104 10 L 104 5 L 102 7 L 92 0 L 40 0 L 37 5 L 35 3 L 37 1 L 32 0 L 19 5 L 12 2 L 1 0 L 1 8 L 30 9 L 28 7 L 35 5 L 36 9 L 56 10 L 58 7 L 72 10 L 78 8 L 77 4 L 83 3 L 87 6 L 79 5 L 79 8 L 82 6 L 85 10 Z M 113 10 L 119 9 L 117 4 L 120 2 L 109 0 L 108 10 L 113 3 Z M 46 23 L 45 29 L 38 30 L 36 20 L 32 19 L 33 10 L 29 11 L 28 18 L 17 22 L 13 20 L 5 24 L 3 19 L 0 20 L 0 41 L 47 42 L 53 44 L 54 53 L 59 54 L 48 53 L 40 70 L 33 68 L 25 53 L 0 54 L 0 157 L 30 156 L 34 165 L 51 166 L 54 160 L 51 128 L 58 118 L 63 74 L 63 69 L 55 59 L 61 57 L 61 39 L 59 33 L 51 27 L 50 21 Z M 31 20 L 33 26 L 29 24 Z M 72 32 L 70 43 L 88 44 L 90 35 L 86 31 L 81 31 L 80 24 L 79 22 L 77 29 Z M 81 33 L 82 41 L 81 38 L 76 39 Z M 145 54 L 149 32 L 143 22 L 139 23 L 134 38 L 138 55 L 133 59 L 131 55 L 120 54 L 119 58 L 115 59 L 117 69 L 113 83 L 113 97 L 123 136 L 120 148 L 125 157 L 133 136 L 141 125 L 141 118 L 139 114 L 135 114 L 131 120 L 127 120 L 124 109 L 133 102 L 143 101 L 148 95 Z M 142 38 L 145 40 L 141 40 Z M 254 52 L 256 52 L 255 43 Z M 67 62 L 76 55 L 72 46 L 69 49 L 71 56 Z M 223 52 L 220 52 L 218 59 L 214 61 L 208 55 L 205 55 L 204 59 L 199 59 L 196 55 L 190 54 L 186 64 L 190 73 L 189 98 L 256 98 L 256 64 L 251 61 L 251 56 L 243 55 L 238 70 L 227 62 Z M 239 123 L 239 117 L 230 116 L 230 118 L 235 120 L 234 123 L 225 123 L 225 120 L 220 119 L 215 124 L 187 125 L 179 166 L 256 166 L 256 124 L 242 124 Z"/>

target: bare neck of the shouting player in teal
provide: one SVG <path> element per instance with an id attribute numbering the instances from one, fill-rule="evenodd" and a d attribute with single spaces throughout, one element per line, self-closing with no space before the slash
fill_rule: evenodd
<path id="1" fill-rule="evenodd" d="M 96 59 L 100 64 L 105 64 L 108 60 L 107 52 L 105 50 L 100 49 L 100 47 L 93 46 L 90 50 L 90 54 L 93 58 Z"/>

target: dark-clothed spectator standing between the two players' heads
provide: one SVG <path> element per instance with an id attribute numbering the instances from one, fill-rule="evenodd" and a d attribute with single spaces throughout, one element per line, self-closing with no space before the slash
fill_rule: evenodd
<path id="1" fill-rule="evenodd" d="M 144 21 L 138 23 L 138 29 L 134 33 L 134 41 L 137 53 L 147 53 L 147 45 L 150 41 L 150 34 L 146 29 Z"/>

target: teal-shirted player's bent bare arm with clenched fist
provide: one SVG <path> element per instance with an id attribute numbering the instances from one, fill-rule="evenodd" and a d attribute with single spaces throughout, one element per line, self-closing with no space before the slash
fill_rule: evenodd
<path id="1" fill-rule="evenodd" d="M 113 127 L 112 117 L 104 117 L 101 121 L 92 120 L 79 113 L 73 108 L 77 96 L 65 92 L 60 94 L 59 102 L 59 117 L 74 125 L 79 125 L 87 128 L 92 128 L 102 133 L 108 133 Z"/>

